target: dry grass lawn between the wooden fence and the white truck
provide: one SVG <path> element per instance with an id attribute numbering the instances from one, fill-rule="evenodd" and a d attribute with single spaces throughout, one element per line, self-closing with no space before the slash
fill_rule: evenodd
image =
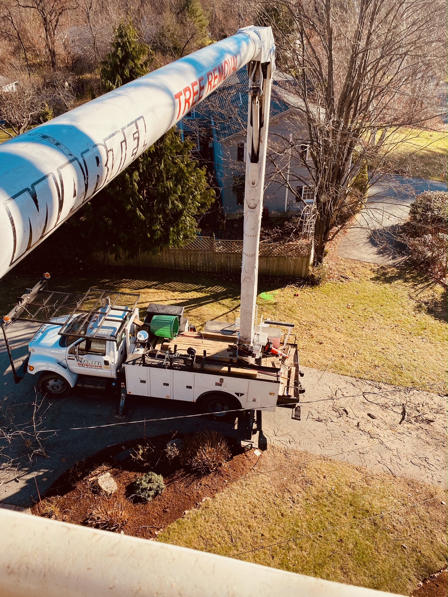
<path id="1" fill-rule="evenodd" d="M 207 319 L 233 322 L 239 316 L 240 285 L 225 276 L 83 268 L 55 273 L 50 287 L 79 292 L 93 285 L 119 287 L 140 293 L 145 310 L 150 302 L 183 304 L 198 329 Z M 13 270 L 2 279 L 4 313 L 38 278 L 37 273 L 20 272 Z M 448 380 L 448 295 L 438 286 L 427 287 L 425 276 L 340 260 L 335 280 L 320 287 L 297 284 L 262 280 L 257 302 L 265 318 L 296 324 L 300 358 L 306 367 L 400 386 Z M 434 387 L 438 393 L 443 390 L 443 386 Z"/>

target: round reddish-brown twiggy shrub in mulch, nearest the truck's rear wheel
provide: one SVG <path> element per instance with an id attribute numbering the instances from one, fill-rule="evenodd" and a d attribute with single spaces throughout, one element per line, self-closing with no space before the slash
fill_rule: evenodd
<path id="1" fill-rule="evenodd" d="M 183 438 L 180 461 L 200 475 L 208 475 L 223 466 L 231 457 L 224 437 L 211 430 Z"/>

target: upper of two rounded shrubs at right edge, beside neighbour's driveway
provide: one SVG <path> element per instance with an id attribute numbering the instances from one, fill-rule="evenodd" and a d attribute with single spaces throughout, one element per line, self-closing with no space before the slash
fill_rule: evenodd
<path id="1" fill-rule="evenodd" d="M 448 192 L 425 191 L 410 207 L 407 231 L 413 235 L 448 232 Z"/>

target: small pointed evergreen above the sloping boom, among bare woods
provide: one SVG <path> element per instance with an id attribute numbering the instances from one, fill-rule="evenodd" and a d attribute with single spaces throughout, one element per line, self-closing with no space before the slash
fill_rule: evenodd
<path id="1" fill-rule="evenodd" d="M 154 54 L 139 42 L 131 20 L 119 23 L 113 31 L 111 51 L 100 66 L 100 79 L 106 91 L 112 91 L 149 72 Z"/>

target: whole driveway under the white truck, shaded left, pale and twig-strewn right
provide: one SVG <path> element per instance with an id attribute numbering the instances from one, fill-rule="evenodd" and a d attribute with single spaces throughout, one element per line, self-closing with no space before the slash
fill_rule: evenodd
<path id="1" fill-rule="evenodd" d="M 27 354 L 27 341 L 32 334 L 30 324 L 17 324 L 16 329 L 11 330 L 17 365 Z M 32 432 L 33 404 L 36 398 L 38 404 L 42 401 L 35 391 L 36 380 L 27 374 L 19 385 L 14 384 L 2 341 L 0 371 L 4 390 L 4 400 L 0 402 L 0 422 L 7 423 L 5 428 L 8 430 L 27 427 Z M 287 445 L 317 457 L 338 458 L 357 466 L 386 473 L 390 471 L 438 487 L 448 487 L 446 397 L 418 390 L 397 391 L 391 386 L 313 369 L 305 369 L 303 382 L 306 387 L 303 399 L 307 402 L 302 407 L 301 421 L 291 418 L 289 408 L 263 413 L 263 432 L 269 445 Z M 375 404 L 366 392 L 375 392 Z M 403 402 L 407 404 L 410 418 L 399 424 Z M 422 410 L 422 404 L 428 413 Z M 42 493 L 76 461 L 109 445 L 142 437 L 143 423 L 116 424 L 114 414 L 117 407 L 118 401 L 111 396 L 74 395 L 62 400 L 45 399 L 36 416 L 37 419 L 42 417 L 42 424 L 38 424 L 37 428 L 59 429 L 48 434 L 48 439 L 44 441 L 48 458 L 36 454 L 32 456 L 33 450 L 38 448 L 36 441 L 29 446 L 25 444 L 25 439 L 32 436 L 16 436 L 11 445 L 0 440 L 0 447 L 5 448 L 4 454 L 14 457 L 19 466 L 16 472 L 0 469 L 0 501 L 29 506 L 32 498 L 37 498 L 36 482 Z M 367 413 L 374 414 L 376 418 L 370 418 Z M 148 421 L 147 436 L 172 430 L 188 433 L 204 427 L 220 430 L 229 436 L 236 433 L 230 423 L 191 416 L 195 414 L 193 405 L 182 402 L 128 398 L 127 421 L 139 421 L 145 417 L 166 418 Z M 109 426 L 66 430 L 69 427 L 99 425 Z"/>

